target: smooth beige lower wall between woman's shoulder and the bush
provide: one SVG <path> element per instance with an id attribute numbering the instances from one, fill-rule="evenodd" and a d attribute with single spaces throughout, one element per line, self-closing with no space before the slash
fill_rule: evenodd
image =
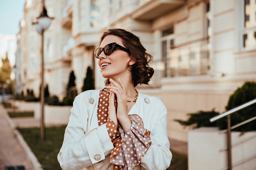
<path id="1" fill-rule="evenodd" d="M 180 141 L 188 141 L 189 128 L 184 128 L 174 119 L 188 119 L 187 113 L 199 110 L 223 113 L 229 96 L 243 85 L 245 81 L 256 81 L 256 76 L 248 77 L 189 77 L 184 79 L 161 79 L 162 87 L 155 89 L 137 88 L 139 92 L 152 95 L 162 100 L 167 108 L 168 137 Z"/>

